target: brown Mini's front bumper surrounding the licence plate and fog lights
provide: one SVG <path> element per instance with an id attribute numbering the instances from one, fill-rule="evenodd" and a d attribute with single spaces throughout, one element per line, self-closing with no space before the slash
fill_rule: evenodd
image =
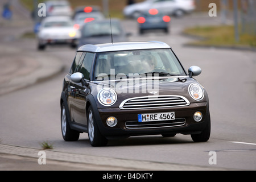
<path id="1" fill-rule="evenodd" d="M 175 112 L 174 121 L 165 122 L 138 122 L 138 114 Z M 193 114 L 200 111 L 203 119 L 196 122 Z M 153 135 L 153 134 L 199 134 L 205 129 L 209 119 L 207 102 L 199 102 L 183 107 L 121 110 L 119 108 L 98 109 L 100 119 L 97 120 L 101 134 L 105 137 Z M 118 123 L 114 127 L 106 124 L 108 117 L 115 117 Z M 143 125 L 143 126 L 142 126 Z"/>

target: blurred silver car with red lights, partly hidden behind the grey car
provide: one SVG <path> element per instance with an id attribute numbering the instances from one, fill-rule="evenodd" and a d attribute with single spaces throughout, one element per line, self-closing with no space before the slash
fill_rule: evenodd
<path id="1" fill-rule="evenodd" d="M 75 27 L 79 29 L 84 23 L 103 19 L 105 19 L 105 16 L 100 11 L 93 11 L 92 13 L 77 13 L 74 17 L 74 22 Z"/>

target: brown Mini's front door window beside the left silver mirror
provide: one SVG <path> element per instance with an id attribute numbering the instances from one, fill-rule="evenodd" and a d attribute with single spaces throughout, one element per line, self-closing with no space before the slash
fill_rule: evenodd
<path id="1" fill-rule="evenodd" d="M 94 53 L 86 53 L 84 60 L 82 61 L 80 72 L 84 74 L 86 80 L 90 80 L 90 68 L 92 67 Z"/>

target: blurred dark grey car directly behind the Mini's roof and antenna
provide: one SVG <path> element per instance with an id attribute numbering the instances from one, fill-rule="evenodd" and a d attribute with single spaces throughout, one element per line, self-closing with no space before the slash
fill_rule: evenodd
<path id="1" fill-rule="evenodd" d="M 85 44 L 101 44 L 113 42 L 126 42 L 129 34 L 123 29 L 119 19 L 98 20 L 85 23 L 81 28 L 81 38 L 79 39 L 78 47 Z"/>

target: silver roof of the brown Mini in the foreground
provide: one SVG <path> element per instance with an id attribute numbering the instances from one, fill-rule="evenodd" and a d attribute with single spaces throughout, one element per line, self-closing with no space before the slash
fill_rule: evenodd
<path id="1" fill-rule="evenodd" d="M 157 41 L 148 42 L 117 42 L 117 43 L 106 43 L 106 44 L 86 44 L 81 46 L 77 52 L 112 52 L 112 51 L 129 51 L 139 49 L 163 49 L 171 48 L 166 43 Z"/>

